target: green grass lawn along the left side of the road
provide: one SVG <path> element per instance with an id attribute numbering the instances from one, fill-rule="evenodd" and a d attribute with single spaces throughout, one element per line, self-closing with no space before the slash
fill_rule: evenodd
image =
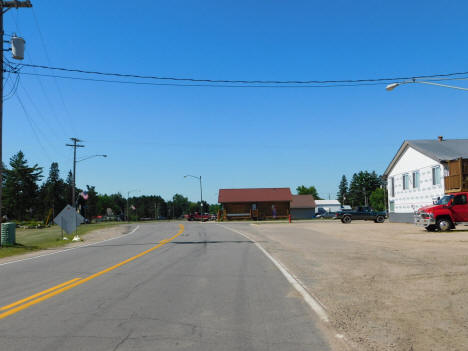
<path id="1" fill-rule="evenodd" d="M 85 235 L 93 230 L 109 228 L 126 222 L 103 222 L 96 224 L 82 224 L 78 227 L 78 235 Z M 16 245 L 0 248 L 0 258 L 19 255 L 25 252 L 63 246 L 71 242 L 72 235 L 66 235 L 69 240 L 62 240 L 61 229 L 54 225 L 43 229 L 16 228 Z"/>

